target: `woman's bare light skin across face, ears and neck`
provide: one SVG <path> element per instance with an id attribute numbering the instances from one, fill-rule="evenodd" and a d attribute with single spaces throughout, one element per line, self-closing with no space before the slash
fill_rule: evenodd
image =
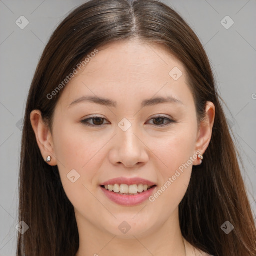
<path id="1" fill-rule="evenodd" d="M 64 88 L 54 111 L 52 132 L 39 110 L 30 115 L 42 157 L 50 155 L 48 164 L 58 165 L 74 206 L 80 239 L 76 256 L 206 255 L 187 241 L 183 243 L 178 222 L 178 205 L 199 158 L 154 202 L 118 205 L 103 194 L 99 184 L 120 176 L 142 177 L 157 184 L 157 191 L 189 157 L 206 150 L 214 122 L 213 103 L 207 102 L 205 120 L 198 124 L 185 69 L 160 44 L 119 41 L 98 50 Z M 173 67 L 183 73 L 178 80 L 169 75 Z M 82 95 L 109 98 L 117 105 L 80 102 L 69 106 Z M 140 106 L 144 99 L 166 95 L 182 104 Z M 90 120 L 94 127 L 81 123 L 95 114 L 105 120 Z M 157 115 L 176 122 L 160 127 L 168 122 L 152 119 Z M 118 126 L 123 118 L 131 123 L 127 131 Z M 72 169 L 80 175 L 74 183 L 66 177 Z M 126 234 L 118 228 L 123 221 L 130 225 Z"/>

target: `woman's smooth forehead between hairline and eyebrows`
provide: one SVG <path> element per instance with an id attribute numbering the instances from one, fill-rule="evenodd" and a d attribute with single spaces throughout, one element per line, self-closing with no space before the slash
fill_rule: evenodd
<path id="1" fill-rule="evenodd" d="M 170 75 L 172 70 L 182 75 L 175 80 Z M 77 96 L 91 95 L 134 103 L 154 95 L 191 97 L 185 95 L 189 93 L 186 81 L 182 63 L 163 45 L 116 41 L 98 48 L 98 53 L 66 85 L 60 100 L 71 103 Z"/>

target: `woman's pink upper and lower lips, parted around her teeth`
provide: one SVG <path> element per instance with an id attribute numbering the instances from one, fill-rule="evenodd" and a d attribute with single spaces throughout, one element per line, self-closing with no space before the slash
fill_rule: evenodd
<path id="1" fill-rule="evenodd" d="M 109 185 L 109 184 L 127 184 L 127 185 L 132 185 L 132 184 L 147 184 L 148 186 L 153 186 L 155 183 L 143 179 L 143 178 L 125 178 L 125 177 L 119 177 L 119 178 L 113 178 L 109 179 L 106 182 L 101 183 L 100 185 Z M 151 187 L 150 189 L 143 191 L 139 194 L 136 195 L 122 195 L 118 194 L 115 192 L 111 192 L 104 187 L 101 187 L 101 190 L 103 193 L 113 202 L 120 204 L 120 205 L 126 205 L 126 206 L 132 206 L 132 205 L 137 205 L 149 198 L 149 196 L 153 193 L 153 190 L 155 189 L 156 186 Z"/>

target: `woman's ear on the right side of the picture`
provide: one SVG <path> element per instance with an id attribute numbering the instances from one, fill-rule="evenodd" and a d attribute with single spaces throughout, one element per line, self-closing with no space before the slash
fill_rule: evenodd
<path id="1" fill-rule="evenodd" d="M 195 152 L 200 151 L 201 155 L 203 155 L 203 153 L 206 151 L 210 143 L 212 127 L 214 124 L 214 118 L 215 118 L 215 106 L 212 102 L 207 101 L 205 106 L 205 117 L 200 122 L 198 136 L 195 144 Z M 198 162 L 198 164 L 200 164 L 199 161 L 200 160 L 197 159 L 194 161 L 194 163 Z"/>

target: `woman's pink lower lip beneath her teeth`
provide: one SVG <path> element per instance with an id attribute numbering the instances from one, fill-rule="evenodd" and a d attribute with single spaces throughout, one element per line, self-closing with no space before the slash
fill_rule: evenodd
<path id="1" fill-rule="evenodd" d="M 115 192 L 111 192 L 104 187 L 101 187 L 101 190 L 103 193 L 113 202 L 120 204 L 120 205 L 126 205 L 126 206 L 131 206 L 131 205 L 137 205 L 145 200 L 148 199 L 148 197 L 153 193 L 153 190 L 155 189 L 156 186 L 151 187 L 150 189 L 136 195 L 121 195 L 117 194 Z"/>

